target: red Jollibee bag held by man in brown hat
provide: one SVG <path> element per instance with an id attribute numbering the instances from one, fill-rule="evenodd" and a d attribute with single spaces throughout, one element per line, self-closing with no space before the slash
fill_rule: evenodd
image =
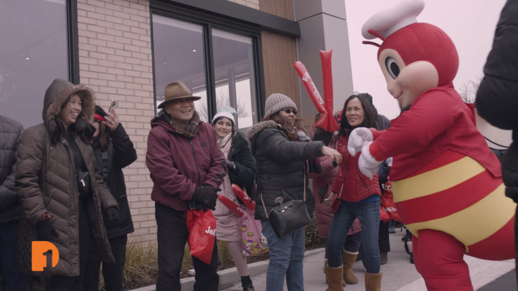
<path id="1" fill-rule="evenodd" d="M 187 229 L 191 255 L 210 265 L 216 239 L 216 217 L 211 210 L 188 210 Z"/>

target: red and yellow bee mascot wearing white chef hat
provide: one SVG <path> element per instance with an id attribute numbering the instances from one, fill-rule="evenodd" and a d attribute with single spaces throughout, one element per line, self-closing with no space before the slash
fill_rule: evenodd
<path id="1" fill-rule="evenodd" d="M 458 54 L 440 28 L 418 23 L 423 0 L 404 0 L 363 26 L 379 47 L 387 90 L 402 105 L 383 131 L 356 128 L 349 152 L 372 177 L 394 157 L 394 202 L 413 234 L 415 268 L 428 290 L 473 290 L 464 254 L 514 258 L 516 205 L 504 194 L 500 163 L 477 130 L 473 112 L 453 88 Z"/>

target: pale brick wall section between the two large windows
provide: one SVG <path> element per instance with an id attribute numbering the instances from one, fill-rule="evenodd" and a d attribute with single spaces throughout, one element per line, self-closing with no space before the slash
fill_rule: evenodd
<path id="1" fill-rule="evenodd" d="M 123 169 L 135 225 L 132 239 L 156 239 L 153 183 L 145 165 L 154 117 L 149 0 L 78 0 L 79 77 L 97 105 L 117 102 L 119 120 L 137 150 Z"/>

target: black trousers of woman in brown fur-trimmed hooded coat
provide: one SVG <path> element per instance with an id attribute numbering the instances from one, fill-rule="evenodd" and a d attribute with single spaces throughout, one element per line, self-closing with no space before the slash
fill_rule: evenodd
<path id="1" fill-rule="evenodd" d="M 79 198 L 79 275 L 53 275 L 48 291 L 83 291 L 84 269 L 90 250 L 90 220 L 86 202 Z"/>

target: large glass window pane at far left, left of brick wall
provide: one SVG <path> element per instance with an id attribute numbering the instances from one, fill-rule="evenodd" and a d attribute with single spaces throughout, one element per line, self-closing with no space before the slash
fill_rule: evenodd
<path id="1" fill-rule="evenodd" d="M 68 79 L 66 0 L 0 0 L 0 115 L 43 122 L 45 91 Z"/>

